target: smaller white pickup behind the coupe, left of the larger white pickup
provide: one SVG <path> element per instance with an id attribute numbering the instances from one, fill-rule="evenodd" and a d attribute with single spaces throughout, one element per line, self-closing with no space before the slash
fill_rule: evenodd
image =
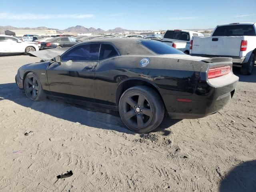
<path id="1" fill-rule="evenodd" d="M 202 33 L 188 30 L 167 30 L 164 34 L 163 40 L 169 41 L 170 46 L 179 49 L 180 51 L 189 54 L 190 42 L 192 37 L 201 36 L 204 37 Z M 174 45 L 172 45 L 174 43 Z"/>

